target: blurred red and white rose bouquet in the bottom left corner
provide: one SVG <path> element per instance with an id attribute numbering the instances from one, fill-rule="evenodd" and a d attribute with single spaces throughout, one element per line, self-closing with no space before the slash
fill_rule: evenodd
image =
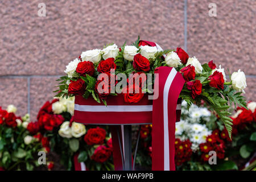
<path id="1" fill-rule="evenodd" d="M 30 117 L 15 115 L 16 107 L 0 107 L 0 171 L 32 170 L 39 166 L 38 152 L 43 151 L 37 136 L 26 129 Z"/>

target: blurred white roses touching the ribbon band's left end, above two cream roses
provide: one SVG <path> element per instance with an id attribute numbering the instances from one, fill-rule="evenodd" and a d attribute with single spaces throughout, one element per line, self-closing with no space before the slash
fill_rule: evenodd
<path id="1" fill-rule="evenodd" d="M 71 115 L 74 115 L 74 108 L 75 108 L 75 97 L 68 97 L 68 98 L 59 98 L 59 101 L 54 102 L 52 104 L 52 111 L 54 114 L 61 114 L 63 112 L 68 112 Z"/>

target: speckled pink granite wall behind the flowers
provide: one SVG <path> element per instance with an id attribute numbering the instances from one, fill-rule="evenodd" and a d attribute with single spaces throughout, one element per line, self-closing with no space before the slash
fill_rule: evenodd
<path id="1" fill-rule="evenodd" d="M 46 17 L 38 4 L 46 4 Z M 201 62 L 213 59 L 247 76 L 246 96 L 255 100 L 255 1 L 28 1 L 0 2 L 0 105 L 35 119 L 53 97 L 56 78 L 86 49 L 142 39 L 163 48 L 187 49 Z"/>

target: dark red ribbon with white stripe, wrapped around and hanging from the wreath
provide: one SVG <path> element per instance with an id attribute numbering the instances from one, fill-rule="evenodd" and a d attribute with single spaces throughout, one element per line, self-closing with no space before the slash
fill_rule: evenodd
<path id="1" fill-rule="evenodd" d="M 141 41 L 141 45 L 159 46 Z M 178 100 L 184 85 L 181 73 L 172 67 L 155 69 L 158 80 L 154 88 L 159 88 L 158 98 L 148 100 L 146 96 L 135 104 L 123 101 L 122 95 L 109 96 L 107 104 L 99 104 L 82 96 L 75 98 L 75 121 L 100 125 L 145 125 L 152 123 L 152 170 L 175 170 L 175 122 L 180 119 L 181 100 Z M 112 130 L 117 131 L 117 130 Z M 122 170 L 120 141 L 112 132 L 113 158 L 116 170 Z M 122 139 L 121 139 L 122 140 Z M 122 146 L 122 141 L 121 141 Z"/>

